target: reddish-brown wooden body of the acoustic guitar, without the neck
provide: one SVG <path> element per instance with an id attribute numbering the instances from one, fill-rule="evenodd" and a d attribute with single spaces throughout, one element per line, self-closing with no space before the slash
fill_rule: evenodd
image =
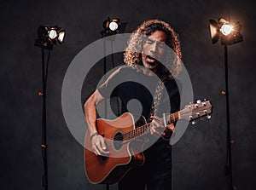
<path id="1" fill-rule="evenodd" d="M 96 156 L 91 151 L 90 135 L 85 135 L 84 163 L 85 173 L 91 183 L 113 184 L 118 182 L 131 168 L 142 165 L 144 156 L 143 143 L 129 141 L 123 144 L 118 139 L 120 134 L 125 134 L 135 129 L 134 118 L 131 113 L 124 113 L 114 120 L 99 118 L 96 120 L 99 135 L 105 137 L 109 155 Z"/>

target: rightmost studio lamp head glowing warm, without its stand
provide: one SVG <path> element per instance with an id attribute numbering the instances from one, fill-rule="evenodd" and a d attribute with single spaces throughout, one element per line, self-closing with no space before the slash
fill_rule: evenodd
<path id="1" fill-rule="evenodd" d="M 241 24 L 239 22 L 230 22 L 224 19 L 209 20 L 210 35 L 212 44 L 217 43 L 220 38 L 221 44 L 232 45 L 242 42 Z"/>

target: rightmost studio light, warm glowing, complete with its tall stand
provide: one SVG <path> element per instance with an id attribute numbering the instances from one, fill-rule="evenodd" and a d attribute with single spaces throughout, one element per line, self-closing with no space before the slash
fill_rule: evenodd
<path id="1" fill-rule="evenodd" d="M 241 36 L 241 25 L 239 22 L 230 23 L 228 20 L 219 19 L 218 22 L 215 20 L 209 20 L 210 23 L 210 34 L 212 37 L 212 44 L 218 42 L 218 38 L 221 38 L 221 44 L 224 45 L 224 73 L 225 73 L 225 91 L 222 91 L 222 95 L 226 97 L 226 120 L 227 120 L 227 131 L 226 131 L 226 164 L 224 165 L 224 174 L 227 177 L 228 189 L 236 190 L 233 185 L 232 176 L 232 154 L 231 154 L 231 141 L 230 138 L 230 92 L 229 92 L 229 69 L 228 69 L 228 45 L 242 42 Z"/>

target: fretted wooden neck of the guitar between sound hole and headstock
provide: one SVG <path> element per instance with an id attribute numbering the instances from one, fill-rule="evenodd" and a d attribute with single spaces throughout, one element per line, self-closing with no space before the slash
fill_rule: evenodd
<path id="1" fill-rule="evenodd" d="M 166 124 L 172 124 L 173 122 L 176 122 L 178 119 L 180 119 L 179 111 L 170 113 L 166 116 Z M 160 118 L 160 124 L 165 124 L 164 120 L 165 120 L 165 118 Z M 135 130 L 131 130 L 131 131 L 123 134 L 122 139 L 124 141 L 130 141 L 130 140 L 135 139 L 141 135 L 148 134 L 149 129 L 150 129 L 150 124 L 151 124 L 151 122 L 148 124 L 144 124 L 142 126 L 137 126 L 137 128 Z"/>

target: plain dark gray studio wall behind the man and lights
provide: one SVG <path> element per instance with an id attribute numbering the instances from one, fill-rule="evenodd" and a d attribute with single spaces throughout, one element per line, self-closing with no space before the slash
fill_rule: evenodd
<path id="1" fill-rule="evenodd" d="M 189 125 L 173 146 L 173 189 L 227 189 L 225 164 L 225 98 L 223 47 L 212 45 L 208 20 L 238 20 L 244 42 L 229 47 L 230 124 L 234 184 L 254 189 L 255 176 L 255 2 L 254 1 L 1 1 L 1 183 L 0 188 L 40 189 L 41 50 L 33 45 L 39 25 L 66 29 L 65 43 L 49 60 L 47 98 L 49 189 L 104 189 L 84 176 L 83 147 L 74 140 L 61 111 L 65 72 L 81 49 L 100 38 L 108 16 L 126 21 L 132 32 L 143 20 L 159 18 L 179 34 L 183 63 L 189 71 L 195 100 L 208 98 L 212 120 Z M 108 69 L 111 68 L 109 64 Z M 83 91 L 86 98 L 102 76 L 94 68 Z M 111 186 L 110 189 L 116 189 Z"/>

